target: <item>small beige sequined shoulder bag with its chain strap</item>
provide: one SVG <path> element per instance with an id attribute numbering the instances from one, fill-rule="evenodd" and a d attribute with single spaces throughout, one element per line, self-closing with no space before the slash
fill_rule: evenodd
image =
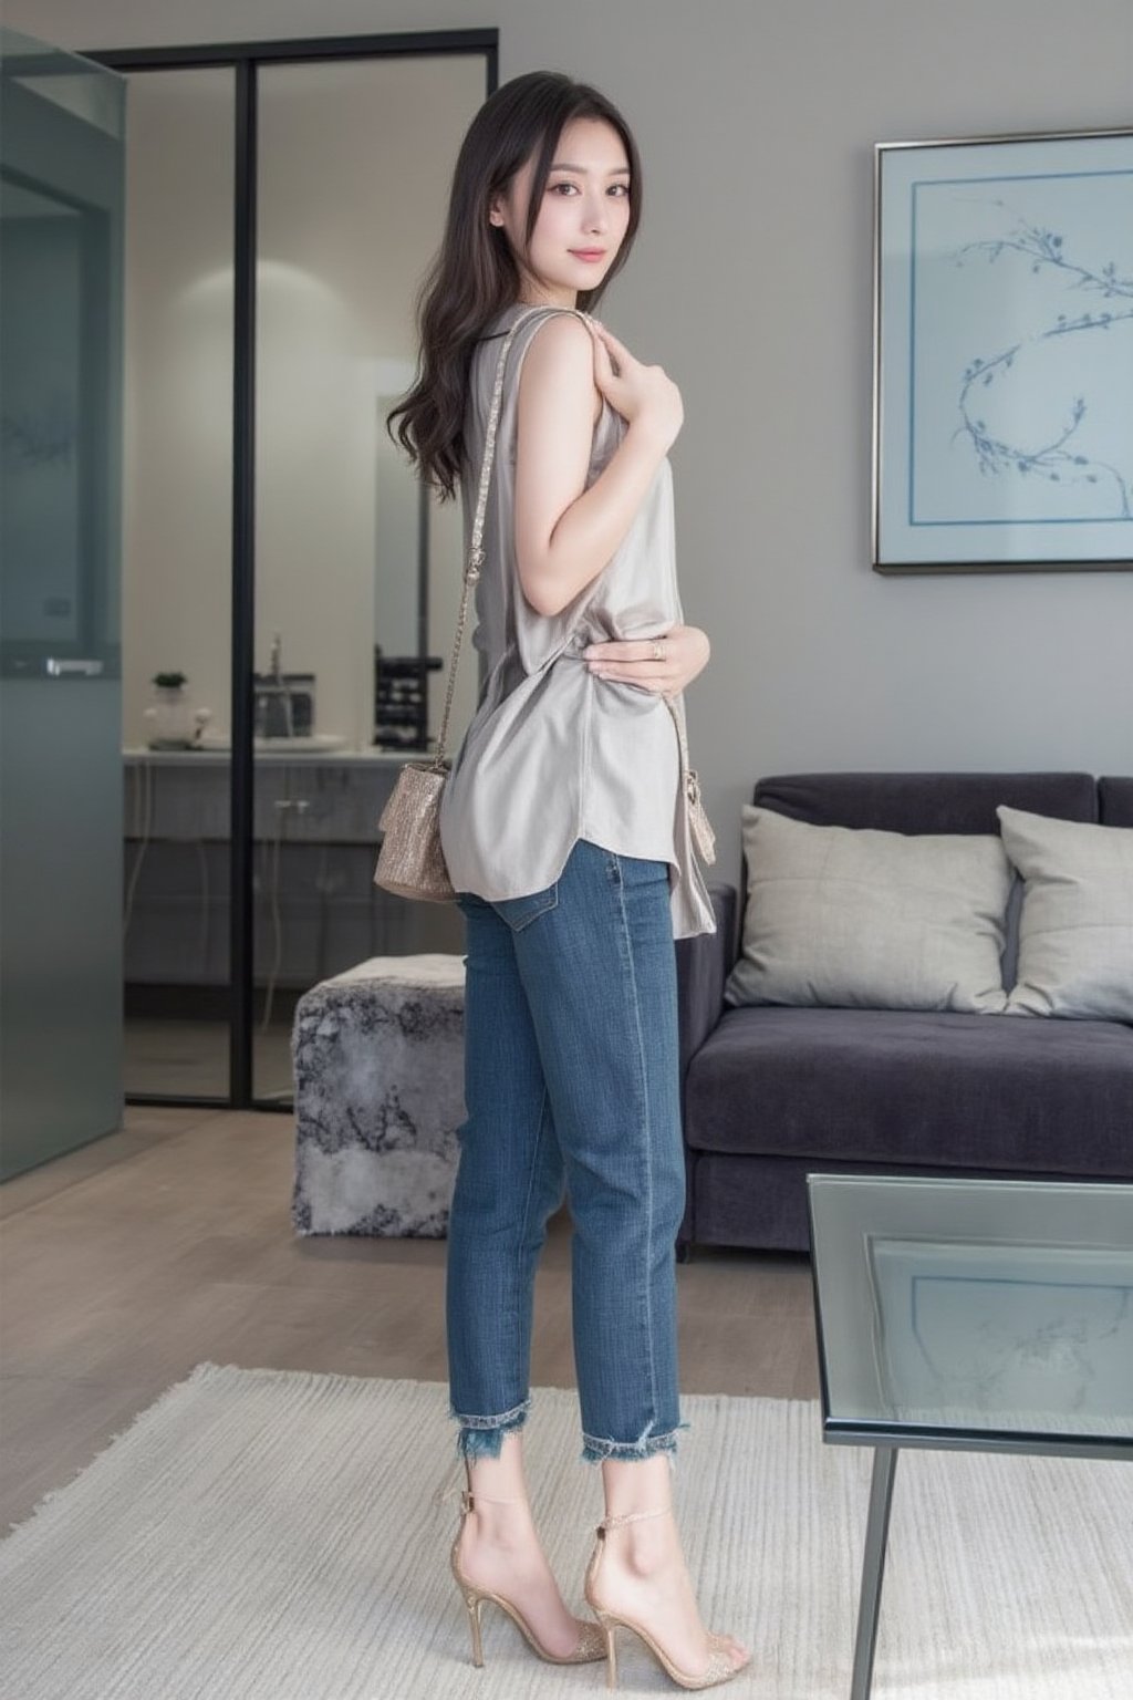
<path id="1" fill-rule="evenodd" d="M 440 721 L 437 753 L 431 762 L 406 762 L 397 775 L 397 782 L 382 809 L 377 830 L 382 843 L 374 869 L 374 884 L 382 891 L 392 891 L 399 898 L 418 898 L 425 903 L 452 903 L 455 891 L 445 865 L 445 852 L 440 842 L 440 799 L 448 779 L 448 762 L 445 760 L 445 740 L 448 736 L 448 714 L 452 711 L 452 690 L 457 682 L 457 661 L 460 660 L 460 639 L 469 607 L 469 590 L 481 576 L 484 551 L 484 510 L 488 507 L 488 486 L 491 481 L 493 457 L 496 452 L 496 423 L 499 420 L 499 398 L 503 394 L 503 369 L 511 340 L 520 325 L 530 318 L 521 313 L 503 340 L 499 364 L 496 366 L 496 384 L 493 389 L 491 413 L 488 418 L 488 435 L 484 442 L 484 464 L 481 466 L 481 483 L 476 502 L 476 522 L 472 525 L 472 546 L 464 570 L 464 592 L 460 595 L 460 614 L 457 615 L 457 636 L 452 644 L 448 663 L 448 690 L 445 694 L 445 712 Z"/>

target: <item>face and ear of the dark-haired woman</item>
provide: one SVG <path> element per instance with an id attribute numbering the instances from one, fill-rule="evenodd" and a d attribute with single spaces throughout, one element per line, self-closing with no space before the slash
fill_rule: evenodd
<path id="1" fill-rule="evenodd" d="M 630 219 L 630 162 L 613 124 L 576 117 L 564 124 L 547 173 L 542 206 L 523 255 L 535 158 L 528 158 L 491 207 L 520 267 L 520 299 L 576 304 L 596 289 L 625 240 Z"/>

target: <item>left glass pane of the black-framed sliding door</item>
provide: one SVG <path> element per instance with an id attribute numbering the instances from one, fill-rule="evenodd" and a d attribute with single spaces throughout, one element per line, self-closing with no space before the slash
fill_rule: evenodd
<path id="1" fill-rule="evenodd" d="M 229 1093 L 231 66 L 127 71 L 126 1086 Z"/>

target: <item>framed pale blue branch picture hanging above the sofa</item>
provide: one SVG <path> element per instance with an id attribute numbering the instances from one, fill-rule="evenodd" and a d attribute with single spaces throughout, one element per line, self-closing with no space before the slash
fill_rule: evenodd
<path id="1" fill-rule="evenodd" d="M 1133 568 L 1133 129 L 882 141 L 877 573 Z"/>

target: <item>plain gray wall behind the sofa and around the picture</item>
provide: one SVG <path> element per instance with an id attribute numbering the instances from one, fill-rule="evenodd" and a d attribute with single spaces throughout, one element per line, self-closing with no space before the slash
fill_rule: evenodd
<path id="1" fill-rule="evenodd" d="M 1128 0 L 7 0 L 82 49 L 498 26 L 598 83 L 645 221 L 603 318 L 685 396 L 693 760 L 739 872 L 759 774 L 1133 772 L 1133 573 L 870 568 L 871 144 L 1133 121 Z"/>

